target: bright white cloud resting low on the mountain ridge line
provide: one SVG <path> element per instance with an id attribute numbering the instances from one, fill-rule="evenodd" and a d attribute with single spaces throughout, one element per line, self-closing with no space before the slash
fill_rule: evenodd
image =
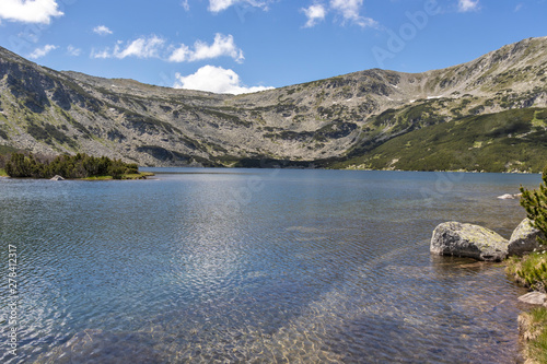
<path id="1" fill-rule="evenodd" d="M 203 66 L 196 73 L 190 75 L 181 75 L 176 73 L 177 81 L 173 85 L 175 89 L 188 89 L 208 91 L 220 94 L 245 94 L 270 90 L 274 87 L 242 85 L 240 75 L 233 70 L 226 70 L 222 67 Z"/>

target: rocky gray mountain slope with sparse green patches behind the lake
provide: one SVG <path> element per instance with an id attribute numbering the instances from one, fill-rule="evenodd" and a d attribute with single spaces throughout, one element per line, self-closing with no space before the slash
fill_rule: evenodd
<path id="1" fill-rule="evenodd" d="M 373 69 L 237 96 L 58 72 L 0 48 L 0 146 L 155 166 L 341 165 L 419 129 L 546 107 L 546 78 L 547 37 L 442 70 Z"/>

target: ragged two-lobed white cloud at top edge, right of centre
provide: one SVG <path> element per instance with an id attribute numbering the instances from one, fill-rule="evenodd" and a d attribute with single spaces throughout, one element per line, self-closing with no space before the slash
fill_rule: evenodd
<path id="1" fill-rule="evenodd" d="M 328 7 L 322 3 L 314 3 L 309 8 L 302 9 L 307 17 L 305 27 L 315 26 L 319 21 L 323 21 L 328 12 L 334 12 L 341 23 L 351 23 L 361 27 L 376 26 L 377 22 L 371 17 L 362 16 L 361 10 L 363 0 L 330 0 Z"/>

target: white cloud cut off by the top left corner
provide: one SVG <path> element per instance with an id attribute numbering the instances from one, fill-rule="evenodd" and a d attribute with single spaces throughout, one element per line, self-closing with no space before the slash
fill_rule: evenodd
<path id="1" fill-rule="evenodd" d="M 49 24 L 51 17 L 62 16 L 56 0 L 1 0 L 0 19 L 23 23 Z"/>

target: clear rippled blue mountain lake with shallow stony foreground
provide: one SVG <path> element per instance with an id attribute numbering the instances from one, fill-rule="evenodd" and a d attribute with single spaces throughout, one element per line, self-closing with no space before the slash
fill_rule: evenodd
<path id="1" fill-rule="evenodd" d="M 539 175 L 147 171 L 0 179 L 1 362 L 515 362 L 525 290 L 429 240 L 509 237 L 525 213 L 497 197 Z"/>

